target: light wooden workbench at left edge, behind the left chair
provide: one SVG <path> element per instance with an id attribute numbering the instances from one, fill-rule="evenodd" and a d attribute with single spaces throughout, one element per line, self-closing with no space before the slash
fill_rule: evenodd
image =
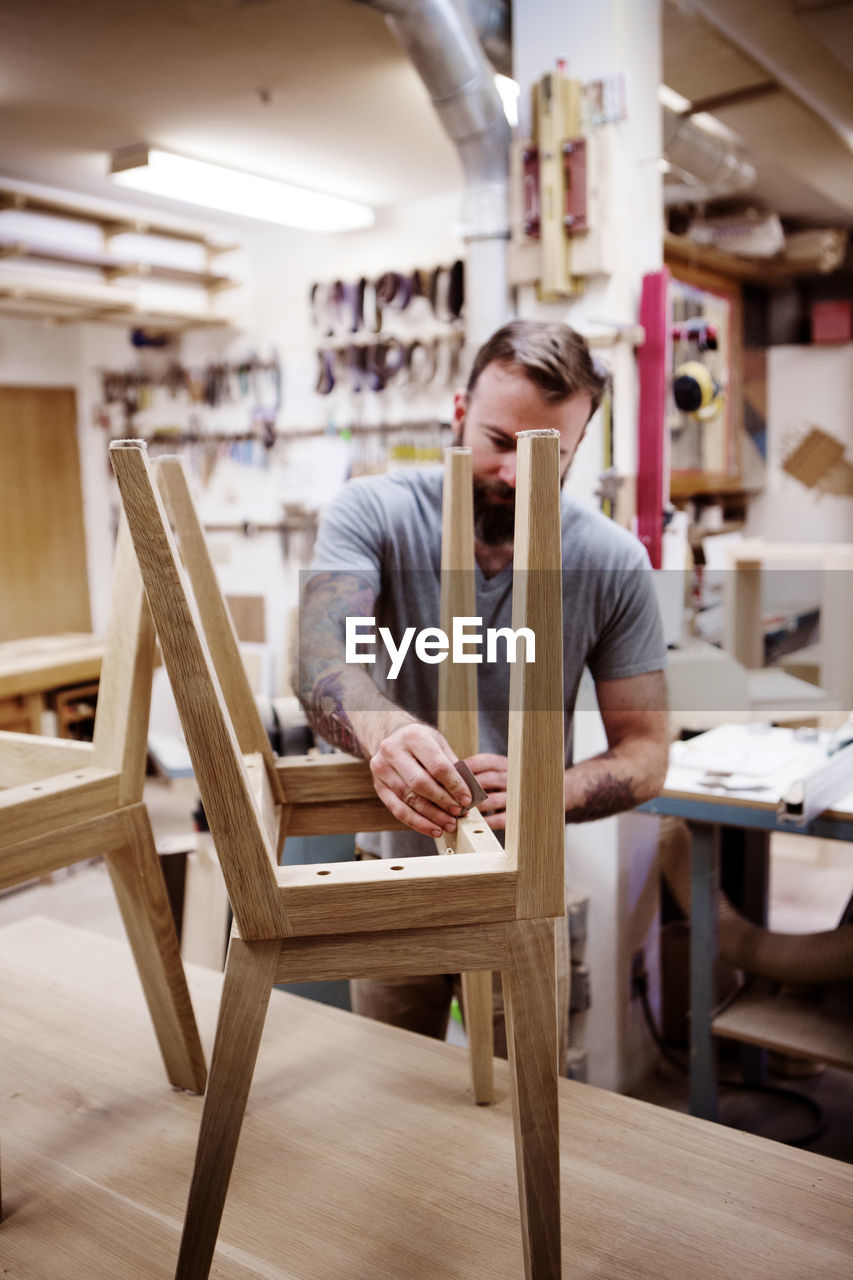
<path id="1" fill-rule="evenodd" d="M 0 644 L 0 728 L 41 733 L 46 695 L 101 673 L 101 636 L 65 634 Z"/>

